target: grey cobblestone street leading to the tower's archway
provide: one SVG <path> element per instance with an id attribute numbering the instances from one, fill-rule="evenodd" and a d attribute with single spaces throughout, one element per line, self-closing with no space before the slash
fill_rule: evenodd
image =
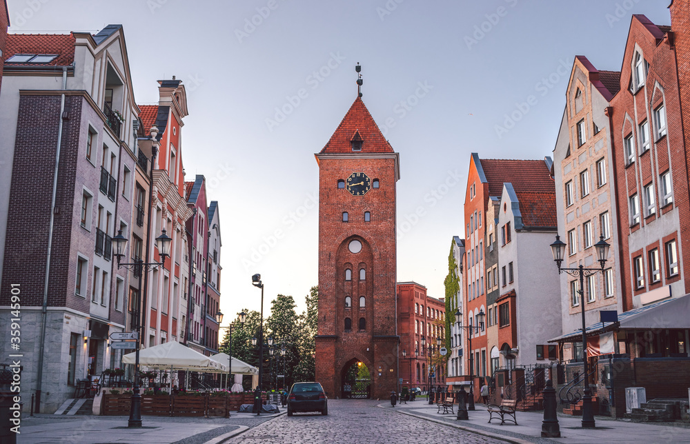
<path id="1" fill-rule="evenodd" d="M 383 401 L 328 400 L 328 416 L 282 415 L 228 443 L 501 443 L 462 430 L 381 408 Z M 397 407 L 396 407 L 397 408 Z"/>

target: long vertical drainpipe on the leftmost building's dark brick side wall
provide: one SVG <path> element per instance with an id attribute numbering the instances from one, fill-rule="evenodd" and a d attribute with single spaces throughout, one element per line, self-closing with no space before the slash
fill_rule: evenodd
<path id="1" fill-rule="evenodd" d="M 55 199 L 57 197 L 57 172 L 60 165 L 60 146 L 62 145 L 62 122 L 65 112 L 65 90 L 67 89 L 67 67 L 62 67 L 62 94 L 60 116 L 57 130 L 57 149 L 55 150 L 55 172 L 52 177 L 52 200 L 50 201 L 50 228 L 48 228 L 48 252 L 46 253 L 46 276 L 43 280 L 43 307 L 41 308 L 41 341 L 39 344 L 38 374 L 36 376 L 35 412 L 41 411 L 41 385 L 43 383 L 43 352 L 46 351 L 46 323 L 48 323 L 48 281 L 50 281 L 50 254 L 52 252 L 52 230 L 55 225 Z"/>

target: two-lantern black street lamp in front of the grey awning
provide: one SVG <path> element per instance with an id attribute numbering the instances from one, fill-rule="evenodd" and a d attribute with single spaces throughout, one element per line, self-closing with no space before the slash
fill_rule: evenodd
<path id="1" fill-rule="evenodd" d="M 599 242 L 594 244 L 597 252 L 597 261 L 601 268 L 584 268 L 582 264 L 578 268 L 561 268 L 561 263 L 563 262 L 565 256 L 566 244 L 560 240 L 560 236 L 556 234 L 556 240 L 551 244 L 551 254 L 553 254 L 553 261 L 555 261 L 558 267 L 558 274 L 561 272 L 566 272 L 573 277 L 580 278 L 580 288 L 578 294 L 580 295 L 580 305 L 582 305 L 582 371 L 584 373 L 584 396 L 582 396 L 582 428 L 583 429 L 593 429 L 596 427 L 594 422 L 594 412 L 592 410 L 592 392 L 589 389 L 589 369 L 587 363 L 587 331 L 586 323 L 584 321 L 584 276 L 593 276 L 598 272 L 604 272 L 604 266 L 606 266 L 607 258 L 609 257 L 609 245 L 604 241 L 604 236 L 600 236 Z"/>

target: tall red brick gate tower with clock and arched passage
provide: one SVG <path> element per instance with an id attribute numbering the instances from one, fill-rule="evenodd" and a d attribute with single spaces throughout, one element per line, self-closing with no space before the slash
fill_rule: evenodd
<path id="1" fill-rule="evenodd" d="M 315 156 L 319 164 L 316 380 L 332 398 L 387 398 L 397 390 L 398 378 L 398 153 L 357 97 Z"/>

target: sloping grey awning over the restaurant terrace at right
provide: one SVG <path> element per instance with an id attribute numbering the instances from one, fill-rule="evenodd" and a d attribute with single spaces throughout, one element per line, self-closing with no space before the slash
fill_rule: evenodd
<path id="1" fill-rule="evenodd" d="M 587 336 L 612 330 L 660 330 L 690 328 L 690 294 L 665 299 L 645 307 L 635 308 L 618 315 L 618 322 L 602 325 L 598 322 L 586 328 Z M 548 342 L 580 342 L 582 330 L 549 339 Z"/>

